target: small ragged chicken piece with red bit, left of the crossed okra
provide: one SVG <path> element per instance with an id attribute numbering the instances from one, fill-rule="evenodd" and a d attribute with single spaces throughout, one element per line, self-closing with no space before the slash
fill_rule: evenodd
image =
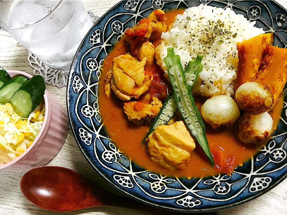
<path id="1" fill-rule="evenodd" d="M 125 102 L 123 104 L 123 110 L 129 121 L 133 121 L 138 125 L 143 124 L 144 121 L 150 122 L 158 115 L 161 107 L 162 103 L 156 97 L 152 97 L 150 104 L 144 102 Z"/>

